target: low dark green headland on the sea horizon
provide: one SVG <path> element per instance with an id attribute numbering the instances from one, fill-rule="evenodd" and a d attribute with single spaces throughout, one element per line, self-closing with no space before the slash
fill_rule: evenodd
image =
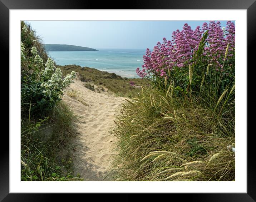
<path id="1" fill-rule="evenodd" d="M 97 51 L 96 49 L 66 44 L 43 44 L 45 51 Z"/>

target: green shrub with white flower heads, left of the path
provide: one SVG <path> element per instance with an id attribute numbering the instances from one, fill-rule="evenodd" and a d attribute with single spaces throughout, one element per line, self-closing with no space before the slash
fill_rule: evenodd
<path id="1" fill-rule="evenodd" d="M 51 58 L 44 64 L 35 46 L 26 49 L 23 42 L 30 46 L 30 38 L 34 37 L 28 34 L 26 24 L 21 34 L 21 111 L 43 117 L 61 100 L 63 90 L 75 78 L 75 72 L 63 79 L 61 70 L 54 66 Z"/>

